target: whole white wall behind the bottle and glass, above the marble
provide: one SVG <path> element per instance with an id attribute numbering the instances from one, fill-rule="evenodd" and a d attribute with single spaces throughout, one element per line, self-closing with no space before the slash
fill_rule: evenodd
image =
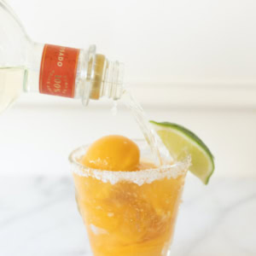
<path id="1" fill-rule="evenodd" d="M 34 41 L 96 44 L 125 62 L 126 84 L 150 119 L 195 131 L 216 157 L 215 177 L 255 177 L 255 1 L 8 2 Z M 113 117 L 106 104 L 22 96 L 0 118 L 1 174 L 68 175 L 67 155 L 80 144 L 142 137 L 130 113 Z"/>

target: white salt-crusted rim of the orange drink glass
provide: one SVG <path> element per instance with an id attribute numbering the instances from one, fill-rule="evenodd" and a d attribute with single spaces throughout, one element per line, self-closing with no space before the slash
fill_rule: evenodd
<path id="1" fill-rule="evenodd" d="M 138 140 L 135 140 L 136 142 Z M 182 161 L 177 161 L 172 165 L 164 165 L 158 168 L 151 168 L 141 171 L 106 171 L 93 169 L 83 166 L 79 159 L 86 153 L 86 149 L 89 145 L 76 148 L 71 154 L 69 154 L 68 160 L 71 163 L 71 171 L 82 177 L 95 177 L 101 180 L 103 183 L 119 183 L 120 181 L 137 183 L 142 185 L 143 183 L 152 183 L 154 180 L 162 178 L 177 178 L 180 175 L 185 174 L 189 166 L 191 165 L 190 155 L 186 156 Z"/>

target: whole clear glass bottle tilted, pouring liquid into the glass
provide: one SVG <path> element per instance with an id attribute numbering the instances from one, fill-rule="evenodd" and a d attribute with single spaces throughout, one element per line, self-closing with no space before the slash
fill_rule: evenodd
<path id="1" fill-rule="evenodd" d="M 9 8 L 0 0 L 0 113 L 21 92 L 90 99 L 119 99 L 123 92 L 123 64 L 108 61 L 89 49 L 38 44 Z"/>

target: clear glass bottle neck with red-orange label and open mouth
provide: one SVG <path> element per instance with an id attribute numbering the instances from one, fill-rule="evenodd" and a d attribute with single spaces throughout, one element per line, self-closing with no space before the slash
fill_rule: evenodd
<path id="1" fill-rule="evenodd" d="M 54 96 L 90 99 L 107 96 L 118 100 L 123 93 L 124 66 L 88 50 L 50 44 L 32 44 L 27 53 L 24 90 Z"/>

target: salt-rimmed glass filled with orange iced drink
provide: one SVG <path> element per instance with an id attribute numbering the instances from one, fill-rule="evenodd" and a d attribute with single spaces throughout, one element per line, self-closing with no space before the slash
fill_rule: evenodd
<path id="1" fill-rule="evenodd" d="M 141 162 L 150 160 L 143 140 Z M 79 163 L 84 146 L 69 156 L 79 212 L 95 256 L 170 255 L 189 157 L 135 172 L 90 169 Z"/>

